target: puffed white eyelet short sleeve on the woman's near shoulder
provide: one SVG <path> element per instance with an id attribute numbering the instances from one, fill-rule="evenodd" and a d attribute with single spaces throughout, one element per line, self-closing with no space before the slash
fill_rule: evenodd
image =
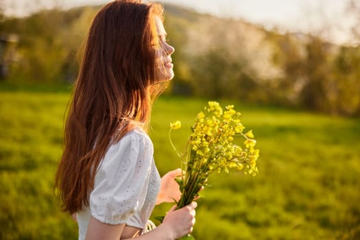
<path id="1" fill-rule="evenodd" d="M 90 195 L 91 215 L 105 224 L 124 224 L 145 201 L 154 147 L 143 134 L 127 134 L 102 161 Z"/>

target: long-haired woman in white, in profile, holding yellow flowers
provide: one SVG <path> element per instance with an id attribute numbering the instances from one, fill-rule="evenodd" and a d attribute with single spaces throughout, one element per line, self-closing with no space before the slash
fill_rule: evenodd
<path id="1" fill-rule="evenodd" d="M 152 99 L 173 78 L 162 16 L 157 4 L 113 1 L 88 32 L 56 173 L 79 239 L 178 239 L 195 223 L 193 202 L 173 206 L 163 224 L 146 231 L 154 204 L 180 194 L 173 180 L 180 170 L 160 181 L 145 133 Z"/>

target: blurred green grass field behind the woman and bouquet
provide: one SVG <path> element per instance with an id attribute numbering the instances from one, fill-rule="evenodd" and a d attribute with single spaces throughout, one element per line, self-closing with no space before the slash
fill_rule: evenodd
<path id="1" fill-rule="evenodd" d="M 0 239 L 77 239 L 53 195 L 69 93 L 0 91 Z M 235 104 L 261 149 L 259 176 L 214 174 L 198 200 L 196 239 L 360 239 L 360 121 Z M 160 97 L 153 108 L 160 173 L 180 166 L 202 99 Z M 169 204 L 157 206 L 163 215 Z"/>

